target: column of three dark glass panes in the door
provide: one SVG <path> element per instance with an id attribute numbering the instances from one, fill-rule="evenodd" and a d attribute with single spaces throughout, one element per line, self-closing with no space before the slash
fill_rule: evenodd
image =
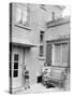
<path id="1" fill-rule="evenodd" d="M 18 54 L 14 54 L 14 78 L 18 77 Z"/>

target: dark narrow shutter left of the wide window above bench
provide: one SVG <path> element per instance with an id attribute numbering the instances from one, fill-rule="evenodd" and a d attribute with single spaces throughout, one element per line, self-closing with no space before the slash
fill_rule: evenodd
<path id="1" fill-rule="evenodd" d="M 48 66 L 52 65 L 52 43 L 46 44 L 46 63 Z"/>

